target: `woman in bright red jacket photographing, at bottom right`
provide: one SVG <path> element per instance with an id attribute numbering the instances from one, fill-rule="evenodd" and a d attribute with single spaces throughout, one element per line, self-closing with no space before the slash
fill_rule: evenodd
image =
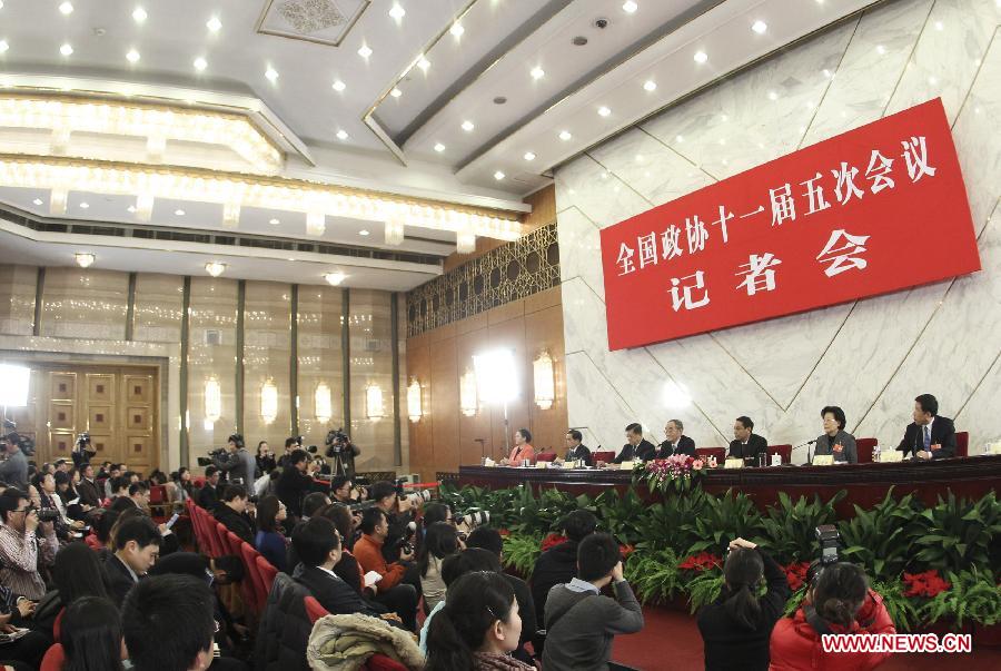
<path id="1" fill-rule="evenodd" d="M 772 630 L 770 669 L 866 671 L 892 654 L 824 652 L 821 633 L 896 633 L 883 600 L 869 589 L 859 566 L 838 563 L 823 569 L 795 615 L 780 620 Z"/>

